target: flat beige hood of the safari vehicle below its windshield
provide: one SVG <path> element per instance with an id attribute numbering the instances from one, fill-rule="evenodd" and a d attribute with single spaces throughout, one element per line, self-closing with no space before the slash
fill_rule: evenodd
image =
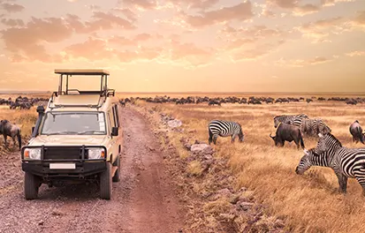
<path id="1" fill-rule="evenodd" d="M 29 146 L 99 146 L 104 145 L 106 135 L 38 135 Z"/>

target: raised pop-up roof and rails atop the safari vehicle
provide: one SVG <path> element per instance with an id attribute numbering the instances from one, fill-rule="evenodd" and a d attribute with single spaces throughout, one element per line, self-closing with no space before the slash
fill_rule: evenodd
<path id="1" fill-rule="evenodd" d="M 63 107 L 89 107 L 89 108 L 96 108 L 99 109 L 103 106 L 103 103 L 106 101 L 106 98 L 109 96 L 115 96 L 115 90 L 108 88 L 108 75 L 110 75 L 109 71 L 105 70 L 86 70 L 86 69 L 78 69 L 78 70 L 55 70 L 55 73 L 59 74 L 59 84 L 58 84 L 58 91 L 53 92 L 50 96 L 49 100 L 49 109 L 57 109 Z M 68 80 L 72 75 L 101 75 L 100 81 L 100 90 L 99 91 L 79 91 L 78 89 L 69 89 L 68 88 Z M 65 78 L 65 79 L 64 79 Z M 65 90 L 63 90 L 63 83 L 65 81 Z M 54 104 L 50 106 L 50 103 L 54 103 L 55 97 L 59 95 L 69 95 L 70 92 L 77 92 L 78 94 L 98 94 L 99 100 L 96 104 L 87 104 L 87 105 L 69 105 L 69 104 Z"/>

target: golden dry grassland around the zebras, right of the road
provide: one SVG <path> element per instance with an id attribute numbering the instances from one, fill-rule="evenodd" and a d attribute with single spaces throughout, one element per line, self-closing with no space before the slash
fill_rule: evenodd
<path id="1" fill-rule="evenodd" d="M 218 138 L 216 156 L 229 159 L 238 181 L 234 184 L 236 189 L 245 186 L 252 190 L 255 199 L 268 207 L 268 214 L 285 218 L 287 230 L 363 232 L 365 198 L 361 196 L 361 186 L 350 179 L 347 194 L 339 194 L 337 178 L 328 168 L 311 168 L 303 176 L 296 175 L 294 169 L 303 155 L 302 151 L 298 151 L 293 143 L 286 144 L 284 148 L 274 147 L 269 134 L 275 132 L 273 116 L 306 113 L 310 117 L 322 117 L 345 147 L 362 147 L 352 143 L 348 127 L 355 119 L 365 125 L 364 105 L 348 106 L 342 102 L 261 106 L 224 104 L 223 107 L 143 104 L 179 118 L 184 123 L 186 134 L 195 130 L 194 137 L 207 142 L 210 120 L 240 122 L 245 133 L 244 143 L 237 140 L 232 145 L 230 139 Z M 316 145 L 316 139 L 304 141 L 307 148 Z M 188 172 L 199 173 L 199 166 L 190 164 Z M 206 208 L 211 210 L 208 206 Z"/>

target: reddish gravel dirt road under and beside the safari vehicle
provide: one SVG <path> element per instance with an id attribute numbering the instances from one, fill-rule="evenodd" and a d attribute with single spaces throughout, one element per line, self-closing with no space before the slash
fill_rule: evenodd
<path id="1" fill-rule="evenodd" d="M 19 153 L 0 158 L 0 232 L 179 232 L 184 220 L 163 153 L 148 123 L 121 110 L 124 153 L 121 181 L 111 200 L 98 198 L 95 184 L 49 188 L 39 199 L 23 198 Z"/>

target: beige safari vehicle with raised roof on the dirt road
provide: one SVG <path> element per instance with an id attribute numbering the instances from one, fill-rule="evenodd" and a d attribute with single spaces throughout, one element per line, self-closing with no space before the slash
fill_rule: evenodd
<path id="1" fill-rule="evenodd" d="M 21 149 L 26 199 L 37 199 L 42 184 L 62 186 L 93 182 L 102 199 L 110 199 L 112 182 L 119 181 L 122 135 L 115 90 L 109 89 L 108 71 L 55 70 L 58 91 L 46 109 L 37 108 L 32 139 Z M 69 88 L 69 79 L 101 76 L 100 90 Z M 88 79 L 88 77 L 85 77 Z"/>

